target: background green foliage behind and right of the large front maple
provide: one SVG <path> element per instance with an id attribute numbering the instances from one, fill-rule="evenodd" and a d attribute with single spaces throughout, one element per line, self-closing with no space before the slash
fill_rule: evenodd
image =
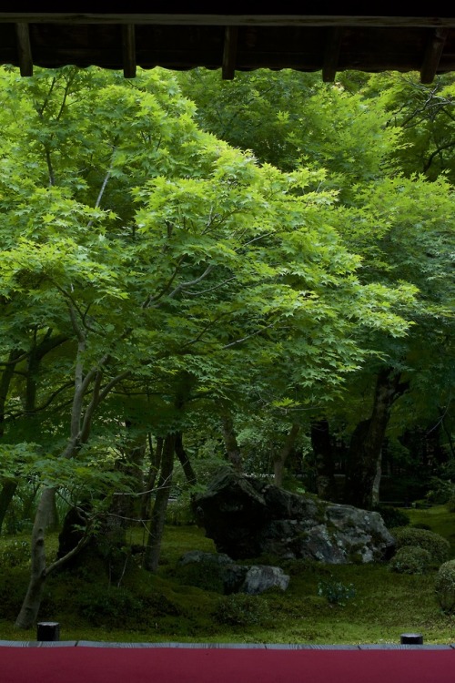
<path id="1" fill-rule="evenodd" d="M 310 403 L 349 433 L 369 417 L 375 375 L 387 364 L 410 382 L 410 391 L 393 408 L 389 433 L 401 435 L 416 416 L 431 428 L 441 414 L 450 432 L 453 78 L 424 87 L 412 74 L 352 72 L 330 85 L 319 74 L 292 71 L 259 70 L 232 82 L 218 76 L 204 69 L 178 76 L 197 103 L 201 125 L 252 150 L 263 163 L 285 170 L 324 168 L 322 187 L 336 191 L 339 205 L 332 225 L 359 256 L 359 282 L 373 290 L 417 292 L 390 307 L 411 322 L 406 336 L 383 333 L 380 326 L 357 329 L 361 341 L 356 336 L 356 342 L 370 355 L 347 376 L 343 402 L 321 402 L 313 384 Z M 274 403 L 281 413 L 298 409 L 298 402 L 287 400 Z"/>

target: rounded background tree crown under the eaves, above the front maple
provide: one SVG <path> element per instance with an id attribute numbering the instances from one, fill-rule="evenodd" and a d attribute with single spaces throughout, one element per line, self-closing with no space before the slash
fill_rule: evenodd
<path id="1" fill-rule="evenodd" d="M 384 133 L 385 107 L 323 83 L 320 74 L 258 69 L 222 81 L 198 68 L 177 78 L 202 127 L 278 168 L 314 165 L 332 177 L 348 173 L 352 183 L 380 175 L 399 144 L 398 128 Z"/>

